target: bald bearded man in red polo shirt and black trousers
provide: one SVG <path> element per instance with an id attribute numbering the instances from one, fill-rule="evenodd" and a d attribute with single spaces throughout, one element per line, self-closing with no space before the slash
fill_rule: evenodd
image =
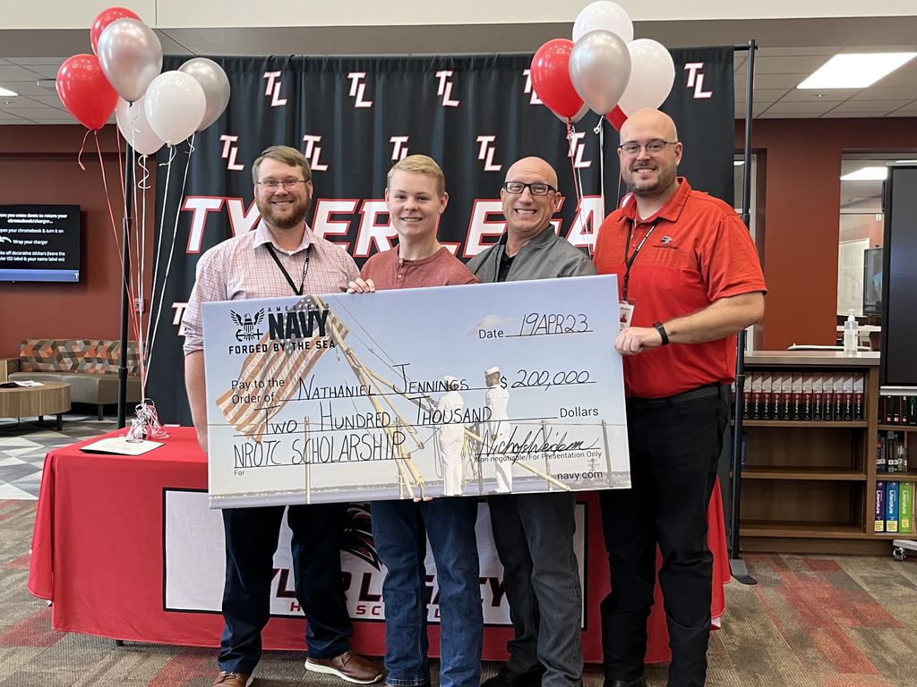
<path id="1" fill-rule="evenodd" d="M 641 110 L 621 127 L 630 195 L 602 223 L 594 262 L 618 276 L 632 488 L 604 491 L 612 592 L 602 601 L 605 687 L 644 687 L 656 547 L 672 662 L 668 687 L 703 685 L 713 555 L 707 504 L 729 421 L 735 333 L 767 286 L 735 210 L 677 176 L 675 123 Z"/>

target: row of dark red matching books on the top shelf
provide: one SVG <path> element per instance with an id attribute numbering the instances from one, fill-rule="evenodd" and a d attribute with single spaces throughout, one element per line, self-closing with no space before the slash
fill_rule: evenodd
<path id="1" fill-rule="evenodd" d="M 751 372 L 743 388 L 745 420 L 863 420 L 862 372 Z"/>

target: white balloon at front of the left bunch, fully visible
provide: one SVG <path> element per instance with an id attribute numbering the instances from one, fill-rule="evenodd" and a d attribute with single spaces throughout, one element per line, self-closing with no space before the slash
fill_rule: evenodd
<path id="1" fill-rule="evenodd" d="M 170 146 L 197 130 L 206 107 L 201 84 L 183 71 L 164 71 L 153 79 L 144 102 L 153 133 Z"/>

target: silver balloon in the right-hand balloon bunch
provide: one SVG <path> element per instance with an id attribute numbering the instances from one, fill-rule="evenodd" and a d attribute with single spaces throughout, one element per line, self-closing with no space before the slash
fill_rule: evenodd
<path id="1" fill-rule="evenodd" d="M 595 114 L 604 116 L 617 104 L 630 80 L 630 52 L 611 31 L 590 31 L 570 51 L 570 82 Z"/>

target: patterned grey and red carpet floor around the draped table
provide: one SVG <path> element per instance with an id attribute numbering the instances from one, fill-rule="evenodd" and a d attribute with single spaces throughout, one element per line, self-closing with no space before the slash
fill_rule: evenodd
<path id="1" fill-rule="evenodd" d="M 113 427 L 70 416 L 63 433 L 53 425 L 0 426 L 0 687 L 206 687 L 213 680 L 212 649 L 116 647 L 55 632 L 50 608 L 26 590 L 35 518 L 28 499 L 38 493 L 44 452 Z M 881 558 L 757 554 L 746 562 L 758 584 L 726 587 L 709 687 L 917 687 L 917 557 L 895 562 L 889 544 Z M 256 687 L 340 684 L 307 673 L 303 658 L 268 652 Z M 498 667 L 486 664 L 484 677 Z M 651 687 L 666 684 L 665 666 L 646 675 Z M 601 670 L 591 666 L 584 682 L 600 687 Z"/>

